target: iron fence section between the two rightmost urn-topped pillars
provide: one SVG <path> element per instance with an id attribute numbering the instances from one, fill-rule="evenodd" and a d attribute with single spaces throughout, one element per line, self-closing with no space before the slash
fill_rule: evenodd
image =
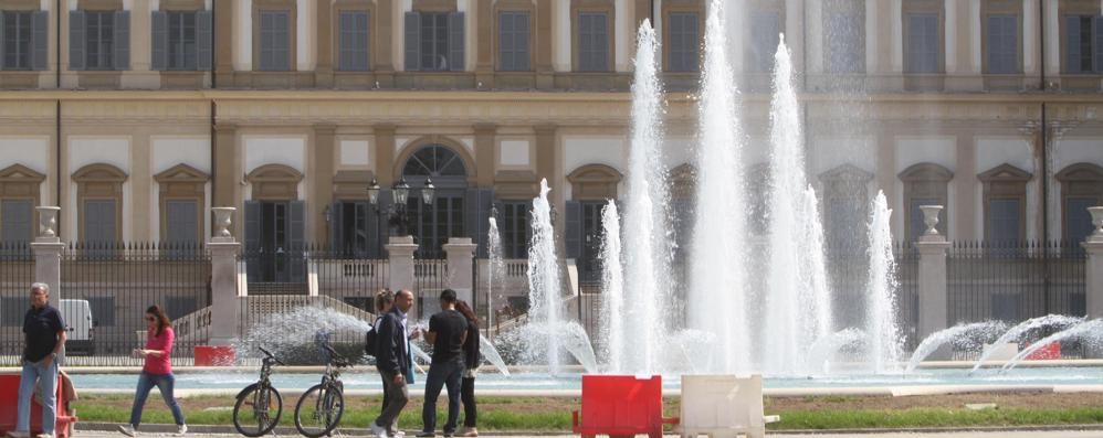
<path id="1" fill-rule="evenodd" d="M 1083 316 L 1085 257 L 1072 242 L 955 242 L 946 261 L 947 323 Z"/>

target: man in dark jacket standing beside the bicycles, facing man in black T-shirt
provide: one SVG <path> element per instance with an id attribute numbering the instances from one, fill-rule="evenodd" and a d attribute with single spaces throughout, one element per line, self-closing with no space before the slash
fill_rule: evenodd
<path id="1" fill-rule="evenodd" d="M 413 292 L 408 289 L 395 295 L 395 306 L 384 313 L 376 334 L 376 368 L 384 381 L 385 406 L 379 417 L 371 421 L 376 438 L 395 438 L 400 434 L 388 430 L 402 413 L 410 391 L 406 373 L 410 370 L 410 342 L 407 340 L 406 314 L 413 308 Z M 390 432 L 391 435 L 388 435 Z"/>

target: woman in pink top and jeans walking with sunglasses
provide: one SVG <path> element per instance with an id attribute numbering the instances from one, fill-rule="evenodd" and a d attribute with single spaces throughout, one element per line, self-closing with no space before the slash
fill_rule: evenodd
<path id="1" fill-rule="evenodd" d="M 172 364 L 170 356 L 172 353 L 172 341 L 176 334 L 172 333 L 172 323 L 160 307 L 150 306 L 146 309 L 146 348 L 135 349 L 135 357 L 145 357 L 146 364 L 141 367 L 141 376 L 138 377 L 138 388 L 134 393 L 134 406 L 130 407 L 130 423 L 120 425 L 118 431 L 128 437 L 133 437 L 138 423 L 141 423 L 141 408 L 146 405 L 146 397 L 149 391 L 156 385 L 165 398 L 165 404 L 172 412 L 176 420 L 177 435 L 188 431 L 188 426 L 183 423 L 183 413 L 180 405 L 172 396 L 172 387 L 176 386 L 176 376 L 172 375 Z"/>

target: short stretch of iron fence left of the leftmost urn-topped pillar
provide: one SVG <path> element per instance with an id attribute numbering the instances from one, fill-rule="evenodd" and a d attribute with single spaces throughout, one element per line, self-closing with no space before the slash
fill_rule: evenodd
<path id="1" fill-rule="evenodd" d="M 15 365 L 23 353 L 23 314 L 30 307 L 34 255 L 24 243 L 0 244 L 0 364 Z"/>

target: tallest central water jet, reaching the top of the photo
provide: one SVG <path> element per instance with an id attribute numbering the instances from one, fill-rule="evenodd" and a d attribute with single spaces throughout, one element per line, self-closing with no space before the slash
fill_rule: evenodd
<path id="1" fill-rule="evenodd" d="M 705 22 L 697 131 L 697 193 L 690 247 L 690 328 L 716 338 L 711 372 L 742 372 L 753 366 L 748 352 L 743 185 L 744 136 L 738 127 L 735 76 L 727 60 L 723 0 L 713 0 Z"/>

